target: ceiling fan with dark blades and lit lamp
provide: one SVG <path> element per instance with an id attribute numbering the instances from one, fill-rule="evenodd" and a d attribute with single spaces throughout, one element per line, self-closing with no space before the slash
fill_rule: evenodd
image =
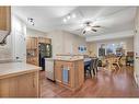
<path id="1" fill-rule="evenodd" d="M 85 22 L 83 23 L 84 27 L 82 30 L 82 34 L 84 35 L 86 32 L 97 32 L 97 27 L 101 27 L 100 25 L 93 25 L 93 22 Z"/>

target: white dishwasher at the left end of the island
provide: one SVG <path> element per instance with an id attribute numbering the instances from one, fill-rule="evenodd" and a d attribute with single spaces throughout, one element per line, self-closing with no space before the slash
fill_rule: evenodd
<path id="1" fill-rule="evenodd" d="M 55 80 L 54 79 L 54 59 L 53 58 L 45 58 L 45 74 L 46 78 L 50 79 L 50 80 Z"/>

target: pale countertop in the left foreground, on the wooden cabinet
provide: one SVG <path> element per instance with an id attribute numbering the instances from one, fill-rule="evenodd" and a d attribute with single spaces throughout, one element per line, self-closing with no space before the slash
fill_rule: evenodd
<path id="1" fill-rule="evenodd" d="M 0 63 L 0 79 L 39 70 L 40 67 L 25 62 Z"/>

